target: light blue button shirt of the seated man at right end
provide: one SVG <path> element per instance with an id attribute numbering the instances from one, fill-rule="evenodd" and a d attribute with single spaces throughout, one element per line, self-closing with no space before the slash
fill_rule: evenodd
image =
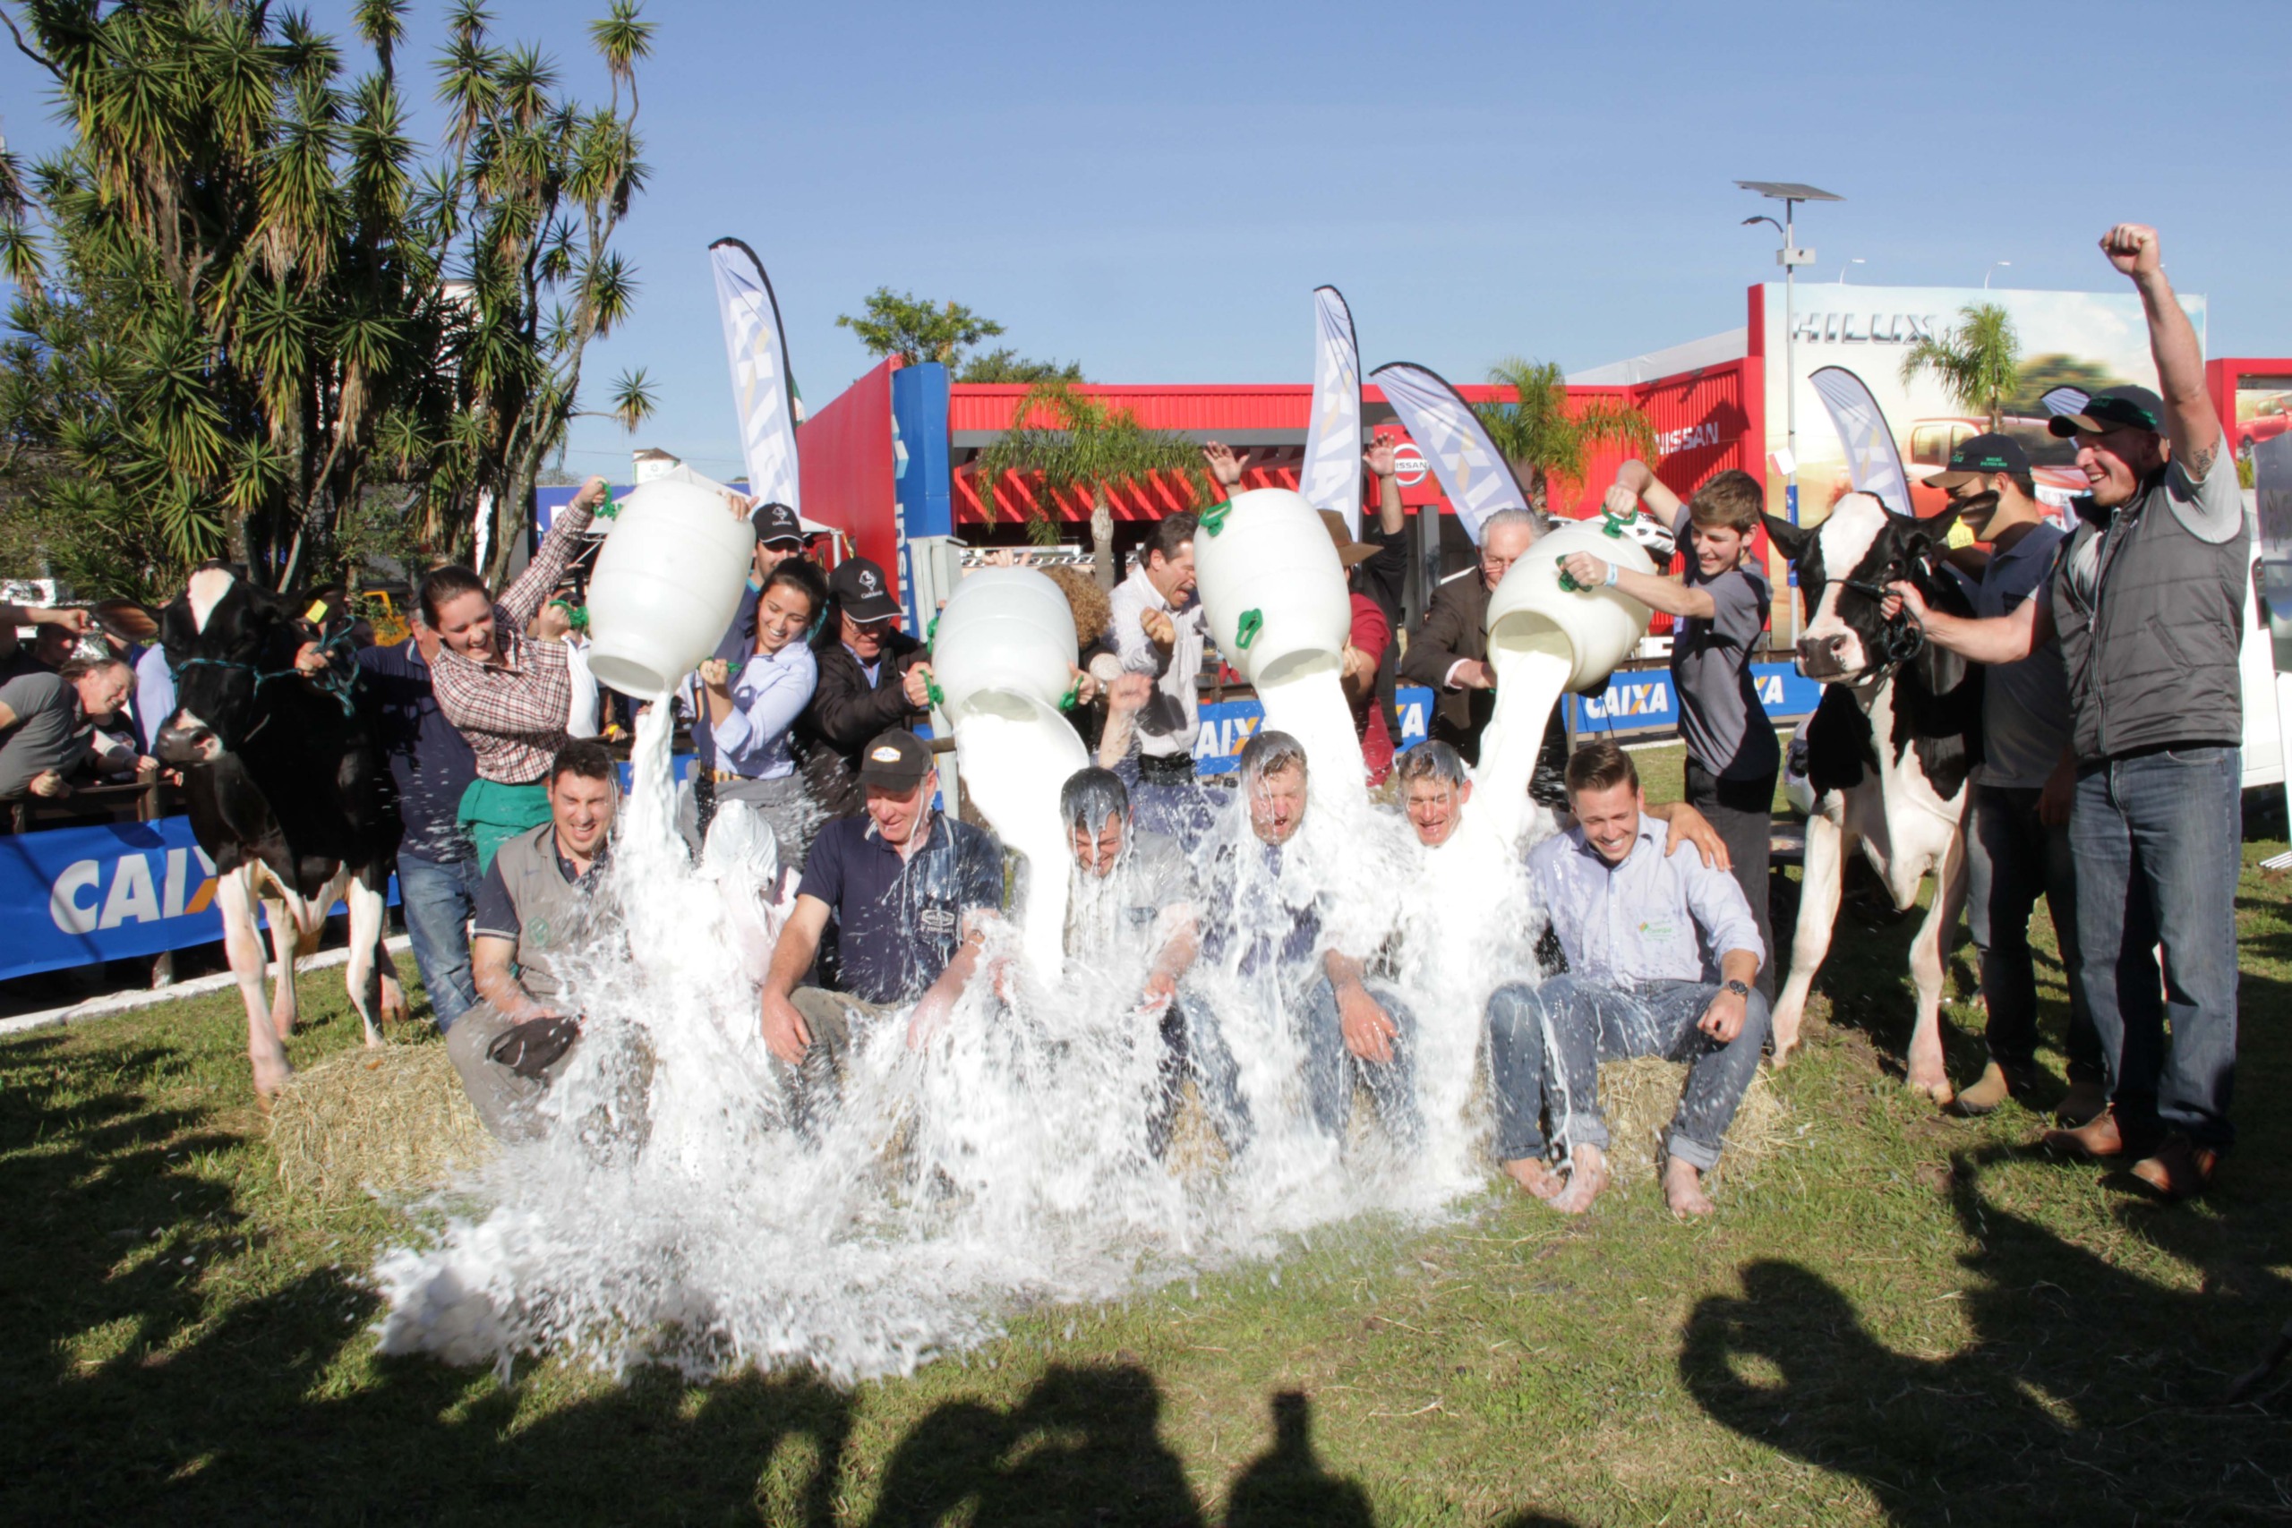
<path id="1" fill-rule="evenodd" d="M 1767 962 L 1733 871 L 1703 864 L 1694 845 L 1664 854 L 1664 836 L 1662 822 L 1641 816 L 1620 866 L 1600 859 L 1581 827 L 1529 850 L 1536 905 L 1552 912 L 1570 971 L 1611 983 L 1719 980 L 1728 951 Z"/>

